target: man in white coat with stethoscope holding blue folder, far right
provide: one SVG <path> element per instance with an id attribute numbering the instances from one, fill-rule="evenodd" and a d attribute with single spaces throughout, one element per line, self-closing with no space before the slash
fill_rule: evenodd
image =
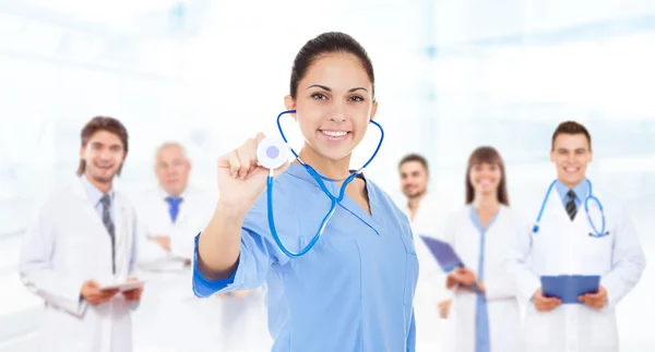
<path id="1" fill-rule="evenodd" d="M 563 122 L 551 143 L 557 180 L 550 192 L 533 199 L 533 217 L 544 209 L 538 229 L 531 226 L 519 236 L 509 262 L 526 305 L 523 345 L 528 352 L 617 352 L 615 311 L 640 280 L 644 253 L 626 210 L 586 178 L 592 161 L 588 131 Z M 596 202 L 587 199 L 591 195 L 603 204 L 606 226 Z M 596 293 L 580 295 L 577 303 L 562 304 L 541 290 L 540 277 L 557 275 L 599 276 L 600 284 Z"/>

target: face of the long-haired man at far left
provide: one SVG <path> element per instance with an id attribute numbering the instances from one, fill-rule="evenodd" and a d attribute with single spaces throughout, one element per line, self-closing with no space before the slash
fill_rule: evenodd
<path id="1" fill-rule="evenodd" d="M 80 148 L 80 158 L 86 163 L 84 174 L 96 184 L 110 185 L 126 156 L 120 137 L 105 130 L 95 132 Z"/>

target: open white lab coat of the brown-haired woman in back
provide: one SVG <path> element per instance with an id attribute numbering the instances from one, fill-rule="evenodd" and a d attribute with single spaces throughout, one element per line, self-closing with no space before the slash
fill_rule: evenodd
<path id="1" fill-rule="evenodd" d="M 478 276 L 480 232 L 471 219 L 471 206 L 455 211 L 444 227 L 444 240 L 457 253 L 464 265 Z M 520 351 L 521 311 L 513 278 L 507 272 L 507 253 L 513 240 L 524 230 L 523 219 L 507 206 L 501 206 L 493 223 L 485 233 L 484 279 L 489 317 L 491 352 Z M 445 284 L 445 280 L 442 281 Z M 453 290 L 450 315 L 452 352 L 474 352 L 476 337 L 477 295 Z"/>

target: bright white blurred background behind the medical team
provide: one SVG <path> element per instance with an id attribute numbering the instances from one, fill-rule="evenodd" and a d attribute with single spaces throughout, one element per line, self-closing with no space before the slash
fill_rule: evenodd
<path id="1" fill-rule="evenodd" d="M 40 302 L 20 284 L 17 247 L 38 199 L 74 172 L 86 121 L 126 123 L 120 186 L 154 184 L 154 148 L 172 138 L 189 149 L 192 181 L 215 189 L 218 155 L 276 132 L 293 59 L 326 31 L 373 60 L 386 138 L 368 174 L 398 202 L 396 163 L 409 151 L 456 204 L 484 144 L 503 155 L 510 196 L 543 186 L 550 134 L 576 120 L 593 136 L 592 179 L 626 202 L 653 257 L 655 1 L 1 0 L 0 351 L 32 351 Z M 648 264 L 619 306 L 624 352 L 655 351 Z"/>

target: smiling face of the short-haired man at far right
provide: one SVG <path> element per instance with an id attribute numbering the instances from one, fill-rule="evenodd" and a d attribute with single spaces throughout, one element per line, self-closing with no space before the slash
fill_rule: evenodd
<path id="1" fill-rule="evenodd" d="M 558 134 L 552 143 L 550 160 L 557 168 L 557 179 L 573 189 L 585 179 L 587 165 L 592 161 L 587 137 L 583 133 Z"/>

